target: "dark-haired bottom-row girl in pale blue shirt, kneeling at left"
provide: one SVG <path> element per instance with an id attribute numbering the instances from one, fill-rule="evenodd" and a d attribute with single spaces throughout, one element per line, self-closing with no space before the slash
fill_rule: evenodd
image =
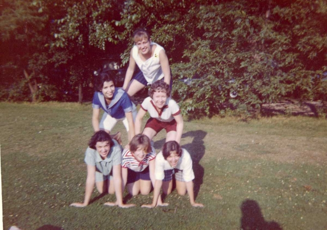
<path id="1" fill-rule="evenodd" d="M 88 205 L 94 184 L 99 193 L 116 194 L 116 202 L 106 202 L 104 205 L 129 208 L 133 204 L 123 204 L 122 191 L 122 147 L 105 131 L 96 132 L 85 152 L 84 159 L 87 166 L 87 177 L 85 185 L 85 198 L 83 203 L 72 203 L 70 206 L 85 207 Z M 112 174 L 113 182 L 110 181 Z"/>

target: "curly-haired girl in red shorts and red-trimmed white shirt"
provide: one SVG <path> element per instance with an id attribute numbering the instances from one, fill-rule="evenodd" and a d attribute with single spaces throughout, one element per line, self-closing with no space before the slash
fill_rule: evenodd
<path id="1" fill-rule="evenodd" d="M 167 141 L 180 142 L 183 133 L 183 118 L 175 100 L 169 98 L 170 88 L 163 81 L 151 85 L 149 97 L 145 98 L 135 118 L 135 134 L 141 133 L 142 119 L 147 112 L 147 121 L 143 134 L 150 140 L 162 129 L 167 132 Z"/>

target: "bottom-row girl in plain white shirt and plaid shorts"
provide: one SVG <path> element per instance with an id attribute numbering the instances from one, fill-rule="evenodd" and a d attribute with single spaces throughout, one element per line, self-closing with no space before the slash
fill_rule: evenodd
<path id="1" fill-rule="evenodd" d="M 173 174 L 175 174 L 176 190 L 179 195 L 189 194 L 190 203 L 193 207 L 203 207 L 202 203 L 194 200 L 192 159 L 188 151 L 180 147 L 176 141 L 168 141 L 162 147 L 162 151 L 155 159 L 155 184 L 153 201 L 151 205 L 143 205 L 145 208 L 154 208 L 160 197 L 160 190 L 170 194 L 173 187 Z"/>

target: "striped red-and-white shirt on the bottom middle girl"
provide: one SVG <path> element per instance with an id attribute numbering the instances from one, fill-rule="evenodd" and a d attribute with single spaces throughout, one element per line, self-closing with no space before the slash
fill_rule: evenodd
<path id="1" fill-rule="evenodd" d="M 155 155 L 155 149 L 152 147 L 152 151 L 149 152 L 141 162 L 139 162 L 135 159 L 129 149 L 124 149 L 122 157 L 122 167 L 129 168 L 135 172 L 142 172 L 148 167 L 149 162 L 155 159 Z"/>

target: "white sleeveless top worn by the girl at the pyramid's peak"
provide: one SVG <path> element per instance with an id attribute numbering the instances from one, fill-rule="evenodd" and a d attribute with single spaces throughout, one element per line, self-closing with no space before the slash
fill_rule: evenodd
<path id="1" fill-rule="evenodd" d="M 164 73 L 162 72 L 159 52 L 164 49 L 164 47 L 158 45 L 157 43 L 151 42 L 150 45 L 157 45 L 154 49 L 154 54 L 151 58 L 143 61 L 138 55 L 138 48 L 136 45 L 132 48 L 132 57 L 134 58 L 138 68 L 143 72 L 144 78 L 147 80 L 148 84 L 152 84 L 157 80 L 164 78 Z M 165 49 L 164 49 L 165 50 Z"/>

